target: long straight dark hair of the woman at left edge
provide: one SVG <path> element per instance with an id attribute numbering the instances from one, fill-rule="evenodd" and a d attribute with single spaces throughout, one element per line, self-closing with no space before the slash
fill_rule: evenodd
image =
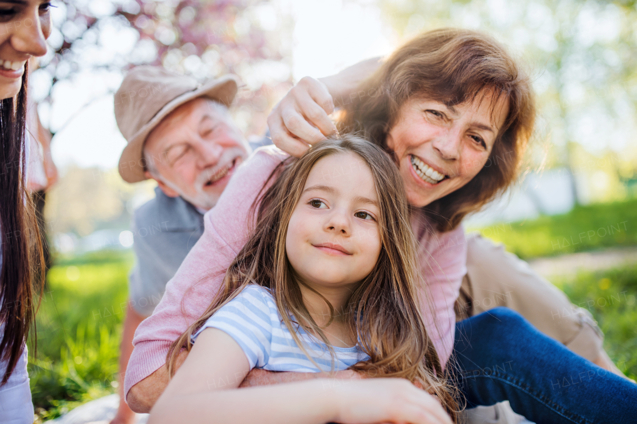
<path id="1" fill-rule="evenodd" d="M 26 185 L 28 73 L 27 62 L 18 95 L 0 101 L 0 360 L 7 362 L 0 385 L 10 378 L 35 326 L 34 293 L 40 292 L 44 279 L 42 244 Z"/>

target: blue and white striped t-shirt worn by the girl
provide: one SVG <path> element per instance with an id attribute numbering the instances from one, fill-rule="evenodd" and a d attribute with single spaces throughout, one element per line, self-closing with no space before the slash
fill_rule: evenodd
<path id="1" fill-rule="evenodd" d="M 311 363 L 296 344 L 276 308 L 276 302 L 267 288 L 246 286 L 239 295 L 225 304 L 193 336 L 208 327 L 227 333 L 241 346 L 250 362 L 250 369 L 268 371 L 320 372 L 330 371 L 332 358 L 329 349 L 315 337 L 299 329 L 299 339 L 312 359 L 321 367 Z M 334 371 L 347 369 L 369 357 L 353 348 L 334 349 Z"/>

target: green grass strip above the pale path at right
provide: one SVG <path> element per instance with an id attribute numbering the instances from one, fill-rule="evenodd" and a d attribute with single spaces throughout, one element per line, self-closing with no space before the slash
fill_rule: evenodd
<path id="1" fill-rule="evenodd" d="M 637 199 L 577 206 L 564 215 L 478 229 L 521 258 L 637 246 Z"/>

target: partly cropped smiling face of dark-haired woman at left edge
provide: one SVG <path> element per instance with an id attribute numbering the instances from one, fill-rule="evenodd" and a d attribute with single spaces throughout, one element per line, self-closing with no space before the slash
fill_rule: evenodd
<path id="1" fill-rule="evenodd" d="M 18 94 L 24 64 L 47 53 L 49 8 L 45 0 L 0 0 L 0 99 Z"/>

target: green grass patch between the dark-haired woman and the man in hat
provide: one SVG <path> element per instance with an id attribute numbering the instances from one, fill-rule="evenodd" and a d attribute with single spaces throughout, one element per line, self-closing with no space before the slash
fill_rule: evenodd
<path id="1" fill-rule="evenodd" d="M 42 419 L 115 392 L 132 254 L 103 252 L 57 263 L 36 318 L 38 357 L 29 364 Z"/>

